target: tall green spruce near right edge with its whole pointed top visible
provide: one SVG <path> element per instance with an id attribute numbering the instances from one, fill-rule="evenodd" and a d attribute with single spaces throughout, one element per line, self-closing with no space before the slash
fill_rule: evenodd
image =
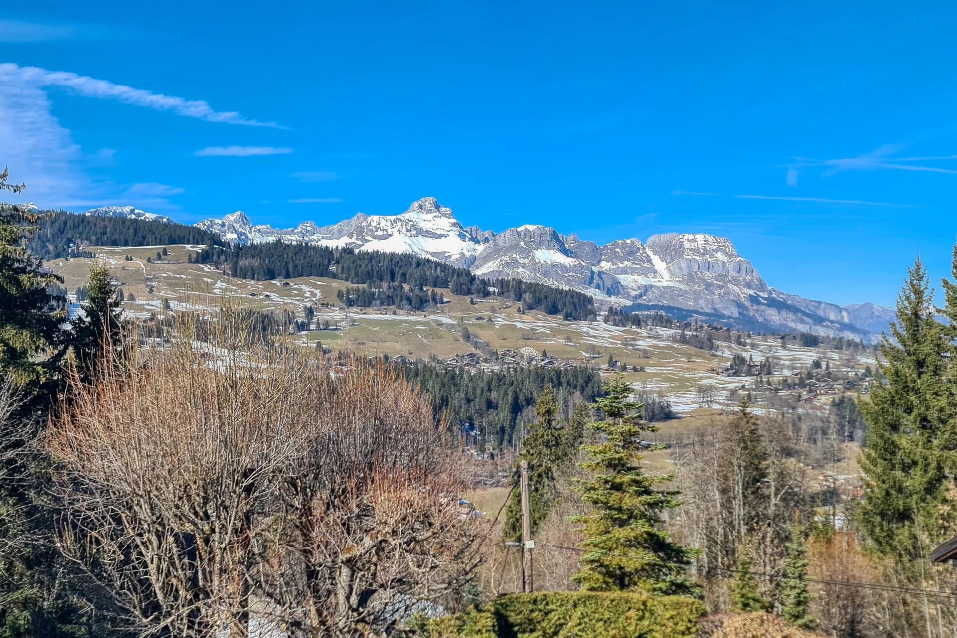
<path id="1" fill-rule="evenodd" d="M 948 533 L 941 508 L 947 485 L 947 343 L 932 299 L 918 259 L 898 298 L 891 334 L 880 344 L 886 384 L 874 385 L 871 400 L 860 406 L 868 432 L 860 457 L 867 483 L 859 522 L 874 548 L 902 565 L 924 560 Z"/>

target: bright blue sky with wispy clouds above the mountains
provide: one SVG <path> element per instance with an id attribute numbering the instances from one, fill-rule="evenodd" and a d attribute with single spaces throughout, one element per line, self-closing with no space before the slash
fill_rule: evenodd
<path id="1" fill-rule="evenodd" d="M 28 199 L 182 221 L 392 214 L 729 237 L 771 285 L 890 304 L 957 237 L 957 7 L 33 0 L 0 19 Z"/>

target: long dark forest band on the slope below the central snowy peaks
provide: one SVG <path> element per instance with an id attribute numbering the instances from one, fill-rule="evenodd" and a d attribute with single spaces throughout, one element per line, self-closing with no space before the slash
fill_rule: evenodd
<path id="1" fill-rule="evenodd" d="M 454 295 L 468 297 L 504 297 L 522 304 L 524 310 L 538 310 L 563 319 L 595 318 L 594 303 L 583 293 L 553 288 L 519 279 L 483 279 L 465 268 L 443 264 L 412 254 L 359 253 L 349 248 L 328 248 L 305 244 L 251 244 L 249 246 L 207 246 L 196 260 L 222 268 L 229 275 L 244 279 L 288 279 L 321 276 L 381 288 L 399 284 L 412 292 L 428 288 L 448 288 Z M 397 290 L 397 289 L 396 289 Z M 363 293 L 355 305 L 365 299 L 369 305 L 384 304 L 386 296 Z M 411 301 L 401 297 L 400 301 Z"/>

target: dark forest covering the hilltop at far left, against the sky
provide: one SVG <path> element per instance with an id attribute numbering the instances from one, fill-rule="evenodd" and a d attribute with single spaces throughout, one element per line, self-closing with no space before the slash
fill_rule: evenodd
<path id="1" fill-rule="evenodd" d="M 216 244 L 220 239 L 195 226 L 123 217 L 97 217 L 65 210 L 45 214 L 27 248 L 42 259 L 89 256 L 87 246 Z"/>

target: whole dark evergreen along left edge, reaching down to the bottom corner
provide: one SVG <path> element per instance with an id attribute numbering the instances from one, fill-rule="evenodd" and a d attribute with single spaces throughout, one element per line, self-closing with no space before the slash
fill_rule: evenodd
<path id="1" fill-rule="evenodd" d="M 0 191 L 23 187 L 0 173 Z M 0 203 L 0 636 L 105 635 L 87 625 L 75 575 L 56 550 L 49 459 L 38 440 L 69 343 L 62 283 L 24 248 L 40 221 Z"/>

